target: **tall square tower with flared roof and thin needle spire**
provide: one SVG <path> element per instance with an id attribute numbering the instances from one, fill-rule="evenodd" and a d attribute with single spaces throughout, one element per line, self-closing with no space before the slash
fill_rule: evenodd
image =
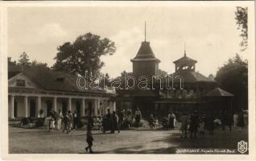
<path id="1" fill-rule="evenodd" d="M 159 72 L 160 60 L 155 57 L 151 49 L 150 42 L 147 42 L 147 32 L 145 23 L 145 39 L 138 49 L 137 55 L 130 60 L 133 63 L 134 76 L 157 76 Z"/>

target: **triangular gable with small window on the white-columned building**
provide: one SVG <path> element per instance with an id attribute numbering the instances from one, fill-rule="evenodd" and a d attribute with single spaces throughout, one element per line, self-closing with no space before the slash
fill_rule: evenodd
<path id="1" fill-rule="evenodd" d="M 39 89 L 39 86 L 31 81 L 23 72 L 8 80 L 8 87 L 26 88 L 26 89 Z"/>

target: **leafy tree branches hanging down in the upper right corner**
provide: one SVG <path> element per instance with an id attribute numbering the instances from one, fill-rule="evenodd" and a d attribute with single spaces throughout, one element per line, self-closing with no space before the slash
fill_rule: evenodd
<path id="1" fill-rule="evenodd" d="M 240 35 L 242 37 L 242 42 L 240 43 L 242 51 L 245 51 L 248 45 L 247 10 L 247 7 L 243 8 L 241 6 L 237 6 L 237 11 L 235 12 L 235 19 L 238 25 L 237 29 L 242 31 L 242 34 Z"/>

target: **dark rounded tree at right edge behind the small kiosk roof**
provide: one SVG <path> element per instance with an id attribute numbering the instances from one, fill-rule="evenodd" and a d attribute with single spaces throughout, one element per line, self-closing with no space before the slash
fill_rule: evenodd
<path id="1" fill-rule="evenodd" d="M 229 59 L 216 76 L 221 89 L 233 93 L 233 107 L 235 110 L 248 107 L 248 64 L 239 55 Z"/>

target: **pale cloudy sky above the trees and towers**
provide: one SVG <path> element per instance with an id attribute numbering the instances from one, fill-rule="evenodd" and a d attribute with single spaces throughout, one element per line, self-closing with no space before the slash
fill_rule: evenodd
<path id="1" fill-rule="evenodd" d="M 122 71 L 132 72 L 133 59 L 144 40 L 147 41 L 159 68 L 174 72 L 175 60 L 187 56 L 197 60 L 196 71 L 216 75 L 229 58 L 240 52 L 240 31 L 234 19 L 234 6 L 69 6 L 9 7 L 8 56 L 18 60 L 27 52 L 31 60 L 55 63 L 57 47 L 74 42 L 88 32 L 115 42 L 113 56 L 101 56 L 101 72 L 111 77 Z"/>

